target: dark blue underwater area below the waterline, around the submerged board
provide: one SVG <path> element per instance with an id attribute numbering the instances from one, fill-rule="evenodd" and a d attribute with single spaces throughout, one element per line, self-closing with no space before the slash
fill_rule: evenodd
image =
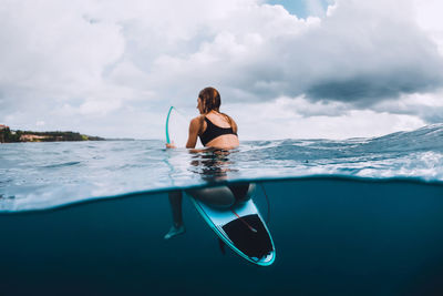
<path id="1" fill-rule="evenodd" d="M 223 255 L 185 200 L 162 237 L 166 193 L 0 216 L 2 290 L 95 295 L 441 295 L 443 186 L 336 177 L 264 183 L 277 258 Z M 257 205 L 266 216 L 262 192 Z"/>

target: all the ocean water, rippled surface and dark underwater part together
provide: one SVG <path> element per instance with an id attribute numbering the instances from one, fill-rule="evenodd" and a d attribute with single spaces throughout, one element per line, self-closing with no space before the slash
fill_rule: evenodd
<path id="1" fill-rule="evenodd" d="M 0 145 L 6 295 L 443 295 L 443 124 L 373 139 Z M 220 252 L 168 192 L 254 182 L 268 267 Z"/>

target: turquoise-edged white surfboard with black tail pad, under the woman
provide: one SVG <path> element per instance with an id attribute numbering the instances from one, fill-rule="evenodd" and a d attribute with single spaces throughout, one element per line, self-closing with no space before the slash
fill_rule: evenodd
<path id="1" fill-rule="evenodd" d="M 177 124 L 179 116 L 183 115 L 171 106 L 166 118 L 166 142 L 174 142 L 177 147 L 184 147 L 184 142 L 179 140 L 182 135 L 177 133 L 187 136 L 187 129 L 184 127 L 186 125 Z M 189 194 L 188 196 L 204 221 L 237 255 L 259 266 L 274 263 L 276 251 L 272 237 L 253 201 L 254 196 L 246 202 L 234 204 L 228 210 L 216 208 Z"/>

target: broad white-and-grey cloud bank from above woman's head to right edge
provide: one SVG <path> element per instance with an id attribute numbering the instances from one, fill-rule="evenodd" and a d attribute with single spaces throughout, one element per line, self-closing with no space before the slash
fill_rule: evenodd
<path id="1" fill-rule="evenodd" d="M 183 81 L 177 95 L 193 95 L 217 82 L 245 102 L 306 94 L 362 106 L 431 92 L 443 84 L 443 60 L 411 10 L 410 1 L 337 1 L 303 20 L 250 3 L 208 23 L 213 35 L 195 52 L 158 57 L 153 86 Z"/>

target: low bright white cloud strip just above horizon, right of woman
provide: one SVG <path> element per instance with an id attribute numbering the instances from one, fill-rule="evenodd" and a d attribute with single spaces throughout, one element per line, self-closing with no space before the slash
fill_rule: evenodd
<path id="1" fill-rule="evenodd" d="M 377 136 L 425 124 L 414 114 L 359 110 L 343 103 L 324 104 L 303 98 L 281 98 L 276 102 L 254 105 L 226 105 L 224 111 L 236 118 L 241 140 Z"/>

